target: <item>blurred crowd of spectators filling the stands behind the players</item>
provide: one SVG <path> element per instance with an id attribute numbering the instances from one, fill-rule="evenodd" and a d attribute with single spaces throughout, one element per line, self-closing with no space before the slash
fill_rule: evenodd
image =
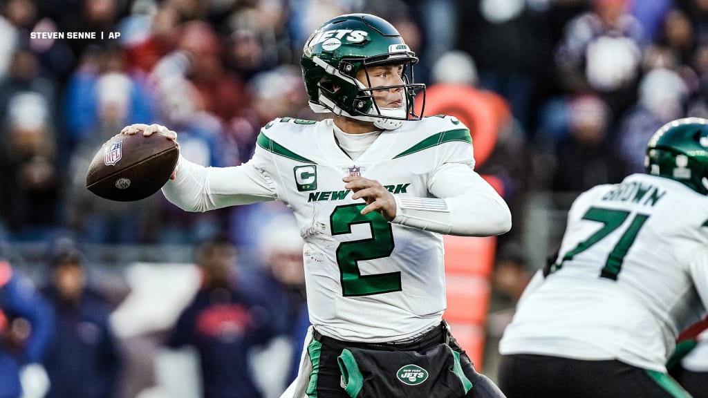
<path id="1" fill-rule="evenodd" d="M 341 13 L 392 21 L 421 59 L 416 81 L 428 84 L 428 109 L 440 110 L 434 86 L 485 94 L 442 111 L 469 113 L 477 169 L 496 181 L 515 225 L 530 191 L 619 181 L 642 169 L 657 127 L 708 115 L 706 0 L 0 4 L 0 237 L 9 241 L 68 231 L 99 244 L 194 244 L 225 233 L 252 245 L 249 231 L 270 217 L 268 205 L 194 215 L 159 194 L 113 203 L 86 191 L 87 166 L 130 123 L 171 127 L 203 165 L 248 160 L 269 120 L 316 117 L 297 64 L 307 35 Z"/>

